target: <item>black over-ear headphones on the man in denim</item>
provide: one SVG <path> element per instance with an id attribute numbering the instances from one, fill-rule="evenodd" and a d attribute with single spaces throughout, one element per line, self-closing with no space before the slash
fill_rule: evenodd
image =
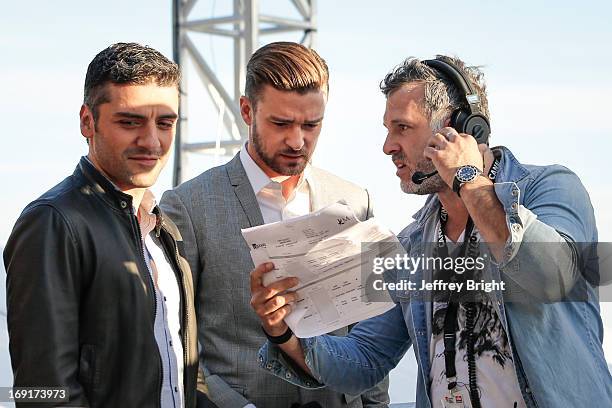
<path id="1" fill-rule="evenodd" d="M 439 59 L 425 60 L 422 63 L 439 72 L 459 87 L 468 103 L 468 108 L 459 108 L 452 113 L 451 126 L 459 133 L 474 136 L 479 144 L 486 143 L 488 145 L 491 125 L 480 110 L 478 93 L 472 88 L 470 81 L 463 75 L 463 72 L 454 64 Z"/>

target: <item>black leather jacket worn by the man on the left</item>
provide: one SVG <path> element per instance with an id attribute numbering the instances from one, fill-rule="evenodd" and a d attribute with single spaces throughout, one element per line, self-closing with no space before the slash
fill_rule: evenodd
<path id="1" fill-rule="evenodd" d="M 196 405 L 193 280 L 176 226 L 159 208 L 152 232 L 181 292 L 185 406 Z M 85 158 L 29 204 L 4 251 L 16 387 L 67 387 L 52 405 L 158 407 L 155 295 L 131 196 Z M 200 391 L 205 385 L 200 384 Z M 41 405 L 36 405 L 41 406 Z"/>

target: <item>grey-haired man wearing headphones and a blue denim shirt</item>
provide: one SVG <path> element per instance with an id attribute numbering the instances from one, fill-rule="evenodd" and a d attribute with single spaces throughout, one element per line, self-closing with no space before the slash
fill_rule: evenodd
<path id="1" fill-rule="evenodd" d="M 598 281 L 589 279 L 581 245 L 597 242 L 597 228 L 579 178 L 490 149 L 482 73 L 458 59 L 408 58 L 381 90 L 383 150 L 402 190 L 428 195 L 398 236 L 408 256 L 480 259 L 486 267 L 396 267 L 387 278 L 415 289 L 392 292 L 394 309 L 344 338 L 297 339 L 283 320 L 297 282 L 263 287 L 273 266 L 260 265 L 251 303 L 269 339 L 278 339 L 262 347 L 262 366 L 304 387 L 358 393 L 413 345 L 417 408 L 612 406 Z M 496 286 L 467 290 L 470 280 Z M 455 286 L 419 291 L 433 281 Z"/>

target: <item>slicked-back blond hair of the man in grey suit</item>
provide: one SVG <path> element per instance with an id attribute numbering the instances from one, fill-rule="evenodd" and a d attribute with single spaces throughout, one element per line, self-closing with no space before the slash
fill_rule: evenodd
<path id="1" fill-rule="evenodd" d="M 329 92 L 325 60 L 313 49 L 293 42 L 267 44 L 247 64 L 245 95 L 256 104 L 264 85 L 301 94 L 322 89 Z"/>

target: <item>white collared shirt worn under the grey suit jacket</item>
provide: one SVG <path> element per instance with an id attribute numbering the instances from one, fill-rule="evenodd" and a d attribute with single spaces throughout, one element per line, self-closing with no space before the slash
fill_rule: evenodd
<path id="1" fill-rule="evenodd" d="M 240 150 L 240 161 L 257 198 L 265 224 L 310 213 L 310 190 L 312 188 L 310 164 L 306 165 L 295 190 L 285 200 L 281 182 L 290 176 L 268 177 L 249 155 L 246 143 Z"/>

